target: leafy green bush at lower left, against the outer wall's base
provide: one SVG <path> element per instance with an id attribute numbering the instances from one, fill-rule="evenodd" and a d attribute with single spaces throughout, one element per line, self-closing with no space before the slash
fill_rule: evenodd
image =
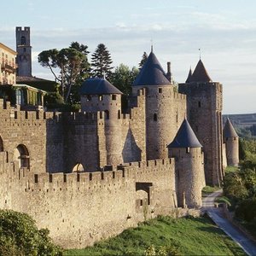
<path id="1" fill-rule="evenodd" d="M 62 255 L 49 238 L 49 230 L 38 230 L 26 213 L 0 210 L 0 255 Z"/>

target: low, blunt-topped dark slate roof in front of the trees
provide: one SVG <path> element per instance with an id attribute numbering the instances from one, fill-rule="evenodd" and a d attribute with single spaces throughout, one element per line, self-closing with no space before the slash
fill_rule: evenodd
<path id="1" fill-rule="evenodd" d="M 80 93 L 81 95 L 123 94 L 106 79 L 86 79 Z"/>

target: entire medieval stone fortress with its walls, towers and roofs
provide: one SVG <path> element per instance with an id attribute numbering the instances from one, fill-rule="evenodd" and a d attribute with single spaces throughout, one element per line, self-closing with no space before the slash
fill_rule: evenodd
<path id="1" fill-rule="evenodd" d="M 201 59 L 175 90 L 154 51 L 132 85 L 129 113 L 106 79 L 87 79 L 78 113 L 43 105 L 44 91 L 15 84 L 32 76 L 30 28 L 16 52 L 0 44 L 0 207 L 26 212 L 63 247 L 84 247 L 177 207 L 201 207 L 201 189 L 238 165 L 238 137 L 222 124 L 222 84 Z M 16 87 L 15 87 L 16 86 Z"/>

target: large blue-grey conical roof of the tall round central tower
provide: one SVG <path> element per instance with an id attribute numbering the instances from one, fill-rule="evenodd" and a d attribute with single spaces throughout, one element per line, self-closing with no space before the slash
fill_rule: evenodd
<path id="1" fill-rule="evenodd" d="M 141 72 L 137 75 L 133 86 L 137 85 L 159 85 L 171 84 L 166 77 L 164 69 L 161 67 L 160 62 L 157 60 L 153 51 L 148 55 L 147 61 L 144 63 Z"/>

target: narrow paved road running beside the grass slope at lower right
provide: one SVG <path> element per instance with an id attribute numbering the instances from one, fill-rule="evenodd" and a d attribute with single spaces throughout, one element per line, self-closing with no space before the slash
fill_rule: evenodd
<path id="1" fill-rule="evenodd" d="M 208 195 L 203 198 L 202 210 L 208 212 L 208 215 L 212 218 L 215 224 L 224 232 L 236 241 L 248 255 L 256 255 L 256 243 L 249 239 L 244 233 L 236 228 L 227 218 L 224 218 L 224 214 L 221 208 L 214 207 L 214 199 L 220 195 L 222 190 Z"/>

